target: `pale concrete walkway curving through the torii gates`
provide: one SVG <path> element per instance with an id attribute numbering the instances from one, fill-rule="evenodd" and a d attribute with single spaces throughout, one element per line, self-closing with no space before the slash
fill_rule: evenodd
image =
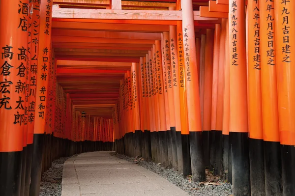
<path id="1" fill-rule="evenodd" d="M 189 195 L 152 171 L 110 152 L 89 152 L 64 163 L 61 196 Z"/>

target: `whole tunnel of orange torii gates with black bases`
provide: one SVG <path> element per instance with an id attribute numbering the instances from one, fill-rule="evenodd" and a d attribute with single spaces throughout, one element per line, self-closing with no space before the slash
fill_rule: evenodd
<path id="1" fill-rule="evenodd" d="M 295 196 L 295 0 L 155 1 L 0 1 L 0 196 L 98 150 Z"/>

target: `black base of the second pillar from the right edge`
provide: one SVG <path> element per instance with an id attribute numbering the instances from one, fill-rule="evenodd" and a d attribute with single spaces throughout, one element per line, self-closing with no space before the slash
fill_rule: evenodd
<path id="1" fill-rule="evenodd" d="M 282 196 L 282 162 L 280 142 L 264 141 L 266 196 Z"/>

